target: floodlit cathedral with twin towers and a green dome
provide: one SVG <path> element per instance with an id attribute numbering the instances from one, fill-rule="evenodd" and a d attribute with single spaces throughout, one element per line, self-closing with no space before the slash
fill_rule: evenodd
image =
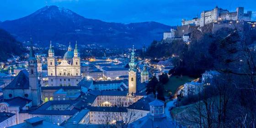
<path id="1" fill-rule="evenodd" d="M 81 80 L 80 54 L 75 43 L 75 49 L 69 43 L 68 51 L 61 62 L 57 62 L 50 43 L 48 50 L 48 86 L 76 86 Z"/>

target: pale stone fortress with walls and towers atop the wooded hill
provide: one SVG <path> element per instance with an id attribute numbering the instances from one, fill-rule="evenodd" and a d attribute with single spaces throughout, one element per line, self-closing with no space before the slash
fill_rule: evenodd
<path id="1" fill-rule="evenodd" d="M 202 11 L 200 18 L 196 17 L 192 20 L 182 19 L 181 26 L 171 28 L 169 32 L 163 33 L 163 40 L 171 43 L 173 40 L 182 40 L 186 43 L 190 42 L 191 33 L 195 30 L 202 32 L 203 27 L 211 28 L 210 31 L 217 32 L 219 29 L 228 27 L 234 29 L 243 29 L 244 22 L 250 22 L 252 11 L 244 13 L 244 7 L 237 7 L 235 12 L 229 12 L 216 6 L 213 10 Z M 235 26 L 232 25 L 235 23 Z M 252 22 L 251 26 L 255 26 Z"/>

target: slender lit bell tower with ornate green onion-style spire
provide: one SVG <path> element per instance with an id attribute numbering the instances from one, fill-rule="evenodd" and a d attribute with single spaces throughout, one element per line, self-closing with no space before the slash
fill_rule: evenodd
<path id="1" fill-rule="evenodd" d="M 128 96 L 135 96 L 136 93 L 136 73 L 137 73 L 137 69 L 136 69 L 136 63 L 134 62 L 134 46 L 133 46 L 133 50 L 131 53 L 131 60 L 129 63 L 129 92 L 128 92 Z"/>

